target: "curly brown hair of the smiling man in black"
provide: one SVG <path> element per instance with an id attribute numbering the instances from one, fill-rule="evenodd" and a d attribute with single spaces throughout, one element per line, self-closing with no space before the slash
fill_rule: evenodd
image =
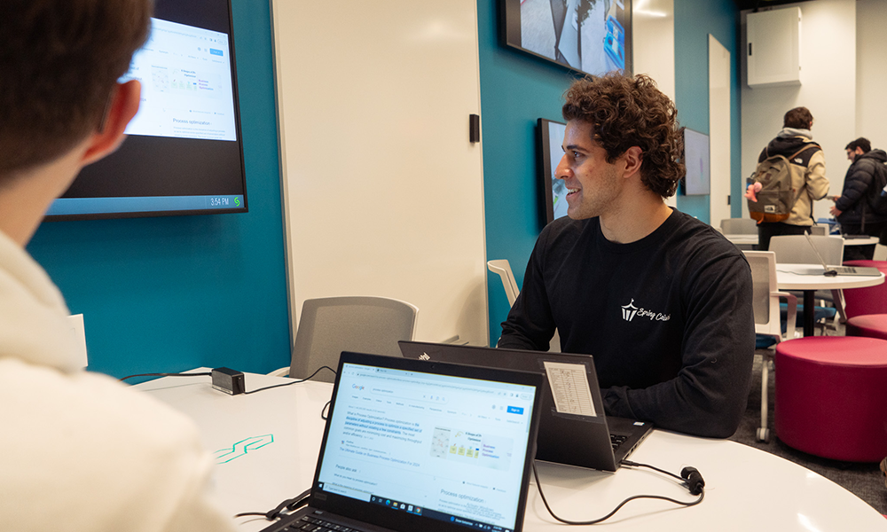
<path id="1" fill-rule="evenodd" d="M 574 82 L 564 94 L 564 120 L 592 124 L 593 140 L 612 163 L 632 146 L 643 152 L 640 181 L 663 198 L 685 174 L 683 128 L 671 99 L 644 74 L 612 72 Z"/>

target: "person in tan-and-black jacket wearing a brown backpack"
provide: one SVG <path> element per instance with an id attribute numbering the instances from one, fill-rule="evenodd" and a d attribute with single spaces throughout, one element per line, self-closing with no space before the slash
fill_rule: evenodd
<path id="1" fill-rule="evenodd" d="M 757 158 L 754 180 L 763 189 L 756 183 L 749 185 L 750 191 L 757 192 L 757 199 L 749 201 L 749 210 L 758 221 L 757 248 L 761 251 L 769 249 L 770 239 L 776 235 L 809 232 L 813 200 L 828 195 L 825 156 L 812 141 L 812 126 L 813 116 L 806 107 L 789 110 L 782 119 L 782 130 Z"/>

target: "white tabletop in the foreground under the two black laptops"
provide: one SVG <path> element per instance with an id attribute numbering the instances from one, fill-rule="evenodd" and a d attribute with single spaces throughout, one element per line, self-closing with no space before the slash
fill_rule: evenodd
<path id="1" fill-rule="evenodd" d="M 246 387 L 287 380 L 247 374 Z M 194 419 L 208 449 L 218 451 L 216 492 L 232 515 L 266 512 L 310 486 L 324 430 L 320 411 L 332 385 L 306 382 L 237 396 L 212 389 L 208 377 L 164 378 L 137 387 Z M 655 500 L 632 502 L 603 524 L 607 529 L 887 530 L 881 514 L 834 482 L 741 443 L 657 430 L 631 459 L 674 473 L 684 465 L 695 466 L 705 479 L 705 499 L 690 508 Z M 647 470 L 602 473 L 539 463 L 538 472 L 554 512 L 570 520 L 600 517 L 640 493 L 695 498 L 676 481 Z M 255 518 L 237 521 L 244 531 L 270 524 Z M 531 483 L 524 530 L 565 529 L 546 512 Z"/>

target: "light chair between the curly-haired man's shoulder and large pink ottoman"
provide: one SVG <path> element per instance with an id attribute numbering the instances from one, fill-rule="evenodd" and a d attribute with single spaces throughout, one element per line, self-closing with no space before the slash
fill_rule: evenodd
<path id="1" fill-rule="evenodd" d="M 791 340 L 795 337 L 797 297 L 788 292 L 779 292 L 777 289 L 776 254 L 772 251 L 746 251 L 743 253 L 751 266 L 751 299 L 755 314 L 755 352 L 761 355 L 761 426 L 757 429 L 757 439 L 769 442 L 767 384 L 774 354 L 771 348 L 781 340 Z M 780 323 L 780 298 L 785 298 L 789 305 L 784 339 Z"/>

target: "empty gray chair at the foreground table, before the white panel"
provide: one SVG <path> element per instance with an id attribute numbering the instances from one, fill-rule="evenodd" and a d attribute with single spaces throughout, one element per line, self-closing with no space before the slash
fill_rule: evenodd
<path id="1" fill-rule="evenodd" d="M 271 375 L 306 379 L 321 366 L 334 371 L 342 351 L 402 356 L 398 340 L 414 340 L 414 305 L 384 297 L 326 297 L 305 300 L 293 357 L 288 368 Z M 333 382 L 333 372 L 321 370 L 313 380 Z"/>

